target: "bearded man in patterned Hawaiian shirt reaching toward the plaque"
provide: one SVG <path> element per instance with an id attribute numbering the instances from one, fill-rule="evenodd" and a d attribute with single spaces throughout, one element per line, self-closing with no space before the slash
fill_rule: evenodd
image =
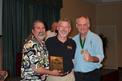
<path id="1" fill-rule="evenodd" d="M 47 74 L 59 74 L 57 70 L 48 70 L 48 51 L 43 41 L 44 38 L 44 23 L 36 20 L 33 24 L 32 33 L 23 45 L 21 81 L 44 81 Z"/>

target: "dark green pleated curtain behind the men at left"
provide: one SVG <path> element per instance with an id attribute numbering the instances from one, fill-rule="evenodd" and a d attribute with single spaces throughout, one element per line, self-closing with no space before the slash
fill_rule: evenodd
<path id="1" fill-rule="evenodd" d="M 10 76 L 16 76 L 16 55 L 21 51 L 24 39 L 31 32 L 32 22 L 41 19 L 50 29 L 51 23 L 60 19 L 61 6 L 55 3 L 47 4 L 51 0 L 41 3 L 38 1 L 3 0 L 3 69 L 7 70 Z"/>

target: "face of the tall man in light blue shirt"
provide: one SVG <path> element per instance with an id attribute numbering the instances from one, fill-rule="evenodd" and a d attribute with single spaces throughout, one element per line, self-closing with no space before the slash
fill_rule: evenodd
<path id="1" fill-rule="evenodd" d="M 89 31 L 90 23 L 87 17 L 80 17 L 76 20 L 76 27 L 81 35 L 86 35 Z"/>

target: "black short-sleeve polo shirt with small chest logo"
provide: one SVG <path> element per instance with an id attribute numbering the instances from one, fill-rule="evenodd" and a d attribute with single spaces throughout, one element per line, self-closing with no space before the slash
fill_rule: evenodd
<path id="1" fill-rule="evenodd" d="M 63 57 L 64 72 L 72 70 L 76 44 L 74 40 L 68 39 L 64 43 L 59 41 L 57 37 L 51 37 L 46 40 L 46 47 L 49 52 L 49 56 Z"/>

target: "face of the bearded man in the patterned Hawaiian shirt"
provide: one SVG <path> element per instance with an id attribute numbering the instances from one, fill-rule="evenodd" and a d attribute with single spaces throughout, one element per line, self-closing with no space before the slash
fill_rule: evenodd
<path id="1" fill-rule="evenodd" d="M 43 40 L 45 38 L 45 26 L 43 22 L 36 21 L 33 25 L 32 33 L 39 40 Z"/>

